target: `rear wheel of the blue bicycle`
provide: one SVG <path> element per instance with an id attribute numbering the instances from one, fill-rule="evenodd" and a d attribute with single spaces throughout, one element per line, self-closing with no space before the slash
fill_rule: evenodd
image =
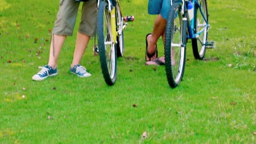
<path id="1" fill-rule="evenodd" d="M 200 32 L 207 25 L 205 19 L 208 21 L 208 10 L 207 10 L 207 2 L 206 0 L 199 0 L 198 3 L 202 7 L 203 15 L 200 12 L 200 8 L 195 5 L 195 14 L 194 14 L 194 27 L 195 33 Z M 192 49 L 195 59 L 202 60 L 205 57 L 206 51 L 206 42 L 208 38 L 208 28 L 204 29 L 202 33 L 200 33 L 199 37 L 196 39 L 192 39 Z"/>

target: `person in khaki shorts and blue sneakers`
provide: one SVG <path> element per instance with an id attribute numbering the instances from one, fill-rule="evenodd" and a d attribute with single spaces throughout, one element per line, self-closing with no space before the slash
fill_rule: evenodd
<path id="1" fill-rule="evenodd" d="M 80 1 L 84 1 L 80 3 Z M 89 77 L 90 73 L 80 65 L 83 53 L 91 36 L 96 35 L 97 3 L 96 0 L 60 0 L 59 12 L 52 30 L 51 46 L 48 64 L 41 68 L 40 72 L 33 75 L 32 80 L 44 80 L 49 76 L 57 75 L 57 61 L 62 45 L 67 36 L 73 34 L 77 12 L 80 4 L 82 7 L 82 17 L 77 32 L 73 61 L 70 72 L 79 77 Z"/>

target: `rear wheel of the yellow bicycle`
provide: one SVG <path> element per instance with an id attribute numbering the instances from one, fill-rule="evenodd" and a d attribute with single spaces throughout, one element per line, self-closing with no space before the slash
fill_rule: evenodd
<path id="1" fill-rule="evenodd" d="M 121 34 L 117 36 L 117 57 L 122 57 L 124 53 L 124 40 L 123 40 L 123 19 L 122 13 L 120 11 L 120 7 L 117 3 L 116 5 L 116 24 L 117 24 L 117 32 L 121 31 Z"/>

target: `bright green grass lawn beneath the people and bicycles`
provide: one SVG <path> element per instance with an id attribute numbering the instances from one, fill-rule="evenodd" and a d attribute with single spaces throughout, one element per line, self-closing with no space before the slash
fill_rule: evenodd
<path id="1" fill-rule="evenodd" d="M 145 0 L 122 1 L 135 21 L 124 32 L 115 85 L 104 82 L 92 42 L 81 61 L 92 76 L 69 73 L 78 25 L 64 43 L 58 76 L 32 81 L 47 64 L 58 5 L 0 0 L 0 143 L 256 142 L 256 1 L 208 0 L 216 48 L 197 61 L 188 41 L 184 77 L 174 89 L 164 66 L 144 65 L 156 17 Z M 161 40 L 158 47 L 162 56 Z"/>

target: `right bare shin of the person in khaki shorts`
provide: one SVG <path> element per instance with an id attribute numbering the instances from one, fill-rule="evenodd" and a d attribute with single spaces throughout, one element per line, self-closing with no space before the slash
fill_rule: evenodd
<path id="1" fill-rule="evenodd" d="M 90 36 L 77 32 L 77 40 L 76 40 L 75 51 L 74 51 L 71 67 L 74 67 L 75 65 L 80 63 L 89 40 L 90 40 Z"/>

